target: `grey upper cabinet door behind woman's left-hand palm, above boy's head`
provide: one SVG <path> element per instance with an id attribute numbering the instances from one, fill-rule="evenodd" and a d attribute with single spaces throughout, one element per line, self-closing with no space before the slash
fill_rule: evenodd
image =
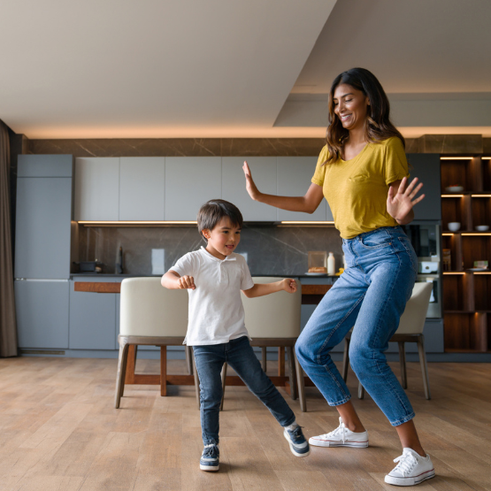
<path id="1" fill-rule="evenodd" d="M 276 157 L 223 157 L 222 198 L 234 203 L 246 221 L 276 221 L 276 208 L 250 199 L 242 170 L 244 160 L 261 192 L 276 195 Z"/>

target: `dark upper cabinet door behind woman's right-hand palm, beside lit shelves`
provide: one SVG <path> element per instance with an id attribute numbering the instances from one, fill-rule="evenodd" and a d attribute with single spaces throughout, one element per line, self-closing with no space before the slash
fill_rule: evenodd
<path id="1" fill-rule="evenodd" d="M 424 193 L 425 199 L 414 207 L 414 219 L 441 220 L 440 155 L 410 153 L 407 157 L 410 164 L 410 180 L 417 177 L 424 184 L 420 194 Z"/>

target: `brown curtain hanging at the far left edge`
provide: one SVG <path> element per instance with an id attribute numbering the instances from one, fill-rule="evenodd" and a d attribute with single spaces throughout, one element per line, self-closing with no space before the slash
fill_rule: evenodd
<path id="1" fill-rule="evenodd" d="M 0 357 L 17 356 L 13 297 L 9 130 L 0 120 Z"/>

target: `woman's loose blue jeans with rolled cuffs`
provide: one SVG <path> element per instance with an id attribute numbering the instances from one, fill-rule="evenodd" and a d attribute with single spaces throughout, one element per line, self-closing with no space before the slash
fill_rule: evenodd
<path id="1" fill-rule="evenodd" d="M 342 249 L 347 268 L 304 327 L 296 356 L 329 405 L 347 403 L 351 395 L 329 353 L 353 327 L 351 367 L 391 425 L 399 426 L 414 411 L 384 353 L 412 293 L 418 258 L 400 226 L 343 239 Z"/>

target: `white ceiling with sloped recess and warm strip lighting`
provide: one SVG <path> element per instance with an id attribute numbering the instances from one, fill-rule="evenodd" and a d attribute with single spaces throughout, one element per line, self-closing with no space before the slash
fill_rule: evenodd
<path id="1" fill-rule="evenodd" d="M 322 137 L 331 81 L 386 88 L 406 136 L 491 136 L 490 0 L 17 0 L 0 119 L 29 138 Z"/>

